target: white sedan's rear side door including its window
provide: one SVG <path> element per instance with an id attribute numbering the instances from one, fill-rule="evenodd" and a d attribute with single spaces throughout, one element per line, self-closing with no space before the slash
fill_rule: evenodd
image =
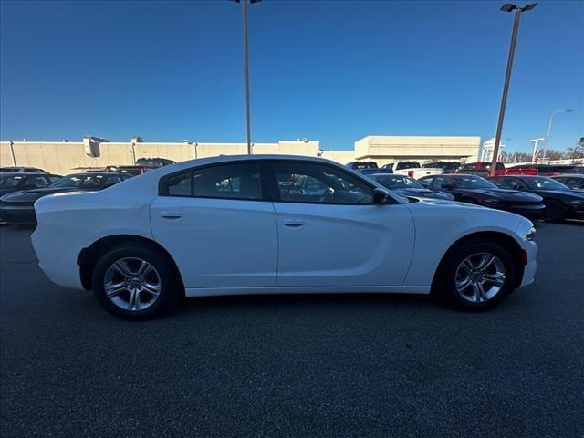
<path id="1" fill-rule="evenodd" d="M 151 226 L 186 288 L 276 285 L 276 214 L 258 162 L 220 163 L 163 177 L 151 202 Z"/>

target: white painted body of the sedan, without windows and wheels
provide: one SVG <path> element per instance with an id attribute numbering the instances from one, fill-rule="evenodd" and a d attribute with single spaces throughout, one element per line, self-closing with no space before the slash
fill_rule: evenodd
<path id="1" fill-rule="evenodd" d="M 521 286 L 533 281 L 537 245 L 526 238 L 532 224 L 516 214 L 429 199 L 407 203 L 391 193 L 397 203 L 358 205 L 158 194 L 164 175 L 250 159 L 326 162 L 347 172 L 319 158 L 221 156 L 165 166 L 101 192 L 49 195 L 35 203 L 32 242 L 39 265 L 57 285 L 82 288 L 80 252 L 102 237 L 135 235 L 172 255 L 187 296 L 429 293 L 454 242 L 495 231 L 512 237 L 527 254 Z M 176 217 L 162 217 L 169 213 Z"/>

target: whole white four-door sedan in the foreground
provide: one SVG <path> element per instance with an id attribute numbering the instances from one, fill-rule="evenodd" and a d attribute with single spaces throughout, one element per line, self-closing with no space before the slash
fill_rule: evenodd
<path id="1" fill-rule="evenodd" d="M 483 310 L 530 284 L 537 265 L 521 216 L 401 198 L 319 158 L 181 162 L 35 209 L 45 274 L 128 319 L 181 295 L 432 292 Z"/>

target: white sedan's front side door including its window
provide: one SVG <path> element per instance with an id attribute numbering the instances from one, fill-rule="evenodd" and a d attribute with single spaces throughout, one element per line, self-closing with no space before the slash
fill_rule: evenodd
<path id="1" fill-rule="evenodd" d="M 373 204 L 370 183 L 319 162 L 272 162 L 277 287 L 401 286 L 414 244 L 401 203 Z"/>

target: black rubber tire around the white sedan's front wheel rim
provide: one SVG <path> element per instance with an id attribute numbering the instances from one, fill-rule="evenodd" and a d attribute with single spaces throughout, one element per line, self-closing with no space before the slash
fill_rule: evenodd
<path id="1" fill-rule="evenodd" d="M 498 258 L 505 267 L 505 280 L 493 297 L 481 302 L 471 302 L 456 289 L 457 270 L 467 257 L 481 253 L 495 255 Z M 433 294 L 451 307 L 472 312 L 483 311 L 495 307 L 513 291 L 515 278 L 516 266 L 506 247 L 493 240 L 476 239 L 457 245 L 444 255 Z"/>

